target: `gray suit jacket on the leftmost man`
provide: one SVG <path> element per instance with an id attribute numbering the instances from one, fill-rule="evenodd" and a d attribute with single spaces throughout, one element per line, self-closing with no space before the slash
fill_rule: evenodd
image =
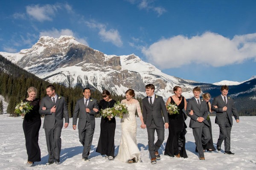
<path id="1" fill-rule="evenodd" d="M 65 98 L 57 95 L 55 105 L 56 112 L 51 113 L 51 108 L 54 106 L 52 99 L 49 96 L 45 96 L 43 99 L 41 99 L 39 113 L 41 115 L 45 115 L 43 125 L 44 129 L 52 129 L 55 124 L 55 120 L 61 127 L 63 127 L 63 116 L 65 118 L 65 123 L 69 123 L 69 115 L 67 111 L 67 103 L 65 102 Z M 46 107 L 46 110 L 43 111 L 42 107 Z"/>

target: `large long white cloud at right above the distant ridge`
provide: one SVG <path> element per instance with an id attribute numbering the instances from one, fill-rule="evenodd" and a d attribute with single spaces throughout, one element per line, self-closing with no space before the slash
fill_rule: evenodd
<path id="1" fill-rule="evenodd" d="M 236 35 L 232 40 L 212 32 L 191 38 L 178 35 L 144 47 L 142 52 L 162 69 L 189 64 L 220 67 L 256 59 L 256 33 Z"/>

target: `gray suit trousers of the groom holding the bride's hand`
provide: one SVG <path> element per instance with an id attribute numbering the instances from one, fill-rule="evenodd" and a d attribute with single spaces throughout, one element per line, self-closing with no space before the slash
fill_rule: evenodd
<path id="1" fill-rule="evenodd" d="M 152 120 L 151 125 L 147 127 L 148 131 L 148 150 L 151 159 L 155 158 L 155 151 L 158 151 L 158 149 L 163 144 L 164 140 L 164 125 L 163 126 L 157 126 L 154 123 L 154 120 Z M 157 131 L 157 142 L 154 144 L 154 133 Z"/>

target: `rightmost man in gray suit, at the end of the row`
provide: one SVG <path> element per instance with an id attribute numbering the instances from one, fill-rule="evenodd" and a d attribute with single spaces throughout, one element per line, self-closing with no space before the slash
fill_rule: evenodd
<path id="1" fill-rule="evenodd" d="M 230 134 L 233 125 L 232 113 L 239 123 L 239 114 L 234 106 L 234 101 L 227 97 L 228 86 L 221 86 L 221 95 L 213 99 L 212 111 L 216 112 L 215 123 L 220 127 L 220 136 L 217 142 L 217 150 L 221 151 L 221 144 L 224 140 L 225 153 L 234 154 L 230 151 Z"/>

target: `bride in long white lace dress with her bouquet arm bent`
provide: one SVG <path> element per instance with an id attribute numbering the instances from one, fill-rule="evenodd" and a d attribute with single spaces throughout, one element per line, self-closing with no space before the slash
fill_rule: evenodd
<path id="1" fill-rule="evenodd" d="M 127 163 L 140 162 L 141 155 L 136 140 L 136 110 L 141 121 L 140 127 L 144 129 L 146 125 L 143 122 L 140 103 L 138 100 L 133 98 L 135 96 L 134 90 L 129 89 L 125 92 L 125 95 L 126 99 L 122 100 L 122 102 L 125 102 L 128 108 L 128 114 L 124 114 L 121 119 L 122 136 L 116 159 Z"/>

